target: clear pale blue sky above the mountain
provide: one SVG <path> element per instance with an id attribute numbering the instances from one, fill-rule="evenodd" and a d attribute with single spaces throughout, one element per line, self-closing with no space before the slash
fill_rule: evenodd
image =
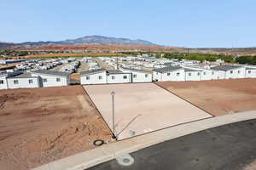
<path id="1" fill-rule="evenodd" d="M 188 48 L 256 47 L 255 0 L 0 0 L 0 41 L 101 35 Z"/>

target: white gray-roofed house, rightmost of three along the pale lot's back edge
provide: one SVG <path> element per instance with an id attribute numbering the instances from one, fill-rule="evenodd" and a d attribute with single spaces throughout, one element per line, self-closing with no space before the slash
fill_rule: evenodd
<path id="1" fill-rule="evenodd" d="M 137 70 L 127 67 L 120 67 L 119 70 L 125 73 L 131 73 L 131 82 L 152 82 L 152 74 L 149 71 Z"/>

